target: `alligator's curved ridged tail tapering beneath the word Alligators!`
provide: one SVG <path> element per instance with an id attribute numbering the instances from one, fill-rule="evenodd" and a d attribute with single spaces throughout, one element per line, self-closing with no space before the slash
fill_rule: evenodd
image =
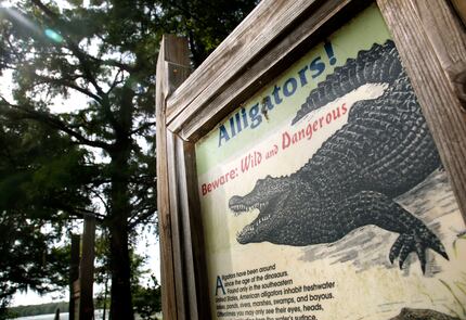
<path id="1" fill-rule="evenodd" d="M 393 41 L 375 43 L 370 50 L 360 51 L 355 59 L 348 59 L 342 66 L 311 91 L 292 125 L 308 113 L 340 98 L 365 84 L 391 84 L 403 73 Z"/>

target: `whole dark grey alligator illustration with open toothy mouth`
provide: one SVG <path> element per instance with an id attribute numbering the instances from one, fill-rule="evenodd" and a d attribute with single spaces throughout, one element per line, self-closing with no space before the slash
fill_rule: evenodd
<path id="1" fill-rule="evenodd" d="M 332 243 L 375 225 L 399 233 L 389 259 L 398 258 L 400 269 L 415 253 L 425 273 L 427 248 L 449 258 L 437 235 L 393 201 L 441 163 L 391 40 L 335 68 L 310 92 L 293 124 L 365 84 L 388 87 L 377 99 L 358 101 L 348 123 L 305 166 L 289 176 L 259 179 L 248 194 L 230 199 L 235 215 L 259 209 L 237 234 L 241 244 Z"/>

